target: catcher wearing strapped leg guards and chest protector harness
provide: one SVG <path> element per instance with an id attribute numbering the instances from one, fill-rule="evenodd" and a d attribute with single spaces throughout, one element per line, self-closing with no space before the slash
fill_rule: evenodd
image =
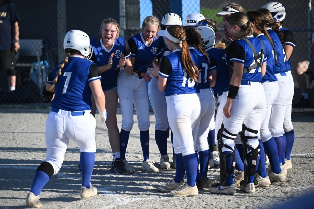
<path id="1" fill-rule="evenodd" d="M 227 18 L 227 31 L 235 41 L 227 49 L 227 60 L 233 68 L 227 102 L 223 108 L 224 118 L 219 131 L 220 184 L 210 187 L 212 193 L 234 194 L 233 172 L 235 167 L 234 139 L 241 132 L 244 146 L 244 183 L 241 190 L 254 192 L 254 176 L 259 163 L 260 147 L 257 132 L 260 129 L 265 108 L 265 94 L 261 84 L 266 71 L 266 61 L 261 41 L 252 36 L 253 24 L 242 12 Z M 252 47 L 245 41 L 246 38 Z M 261 52 L 253 56 L 252 49 Z M 221 140 L 222 139 L 222 140 Z"/>

